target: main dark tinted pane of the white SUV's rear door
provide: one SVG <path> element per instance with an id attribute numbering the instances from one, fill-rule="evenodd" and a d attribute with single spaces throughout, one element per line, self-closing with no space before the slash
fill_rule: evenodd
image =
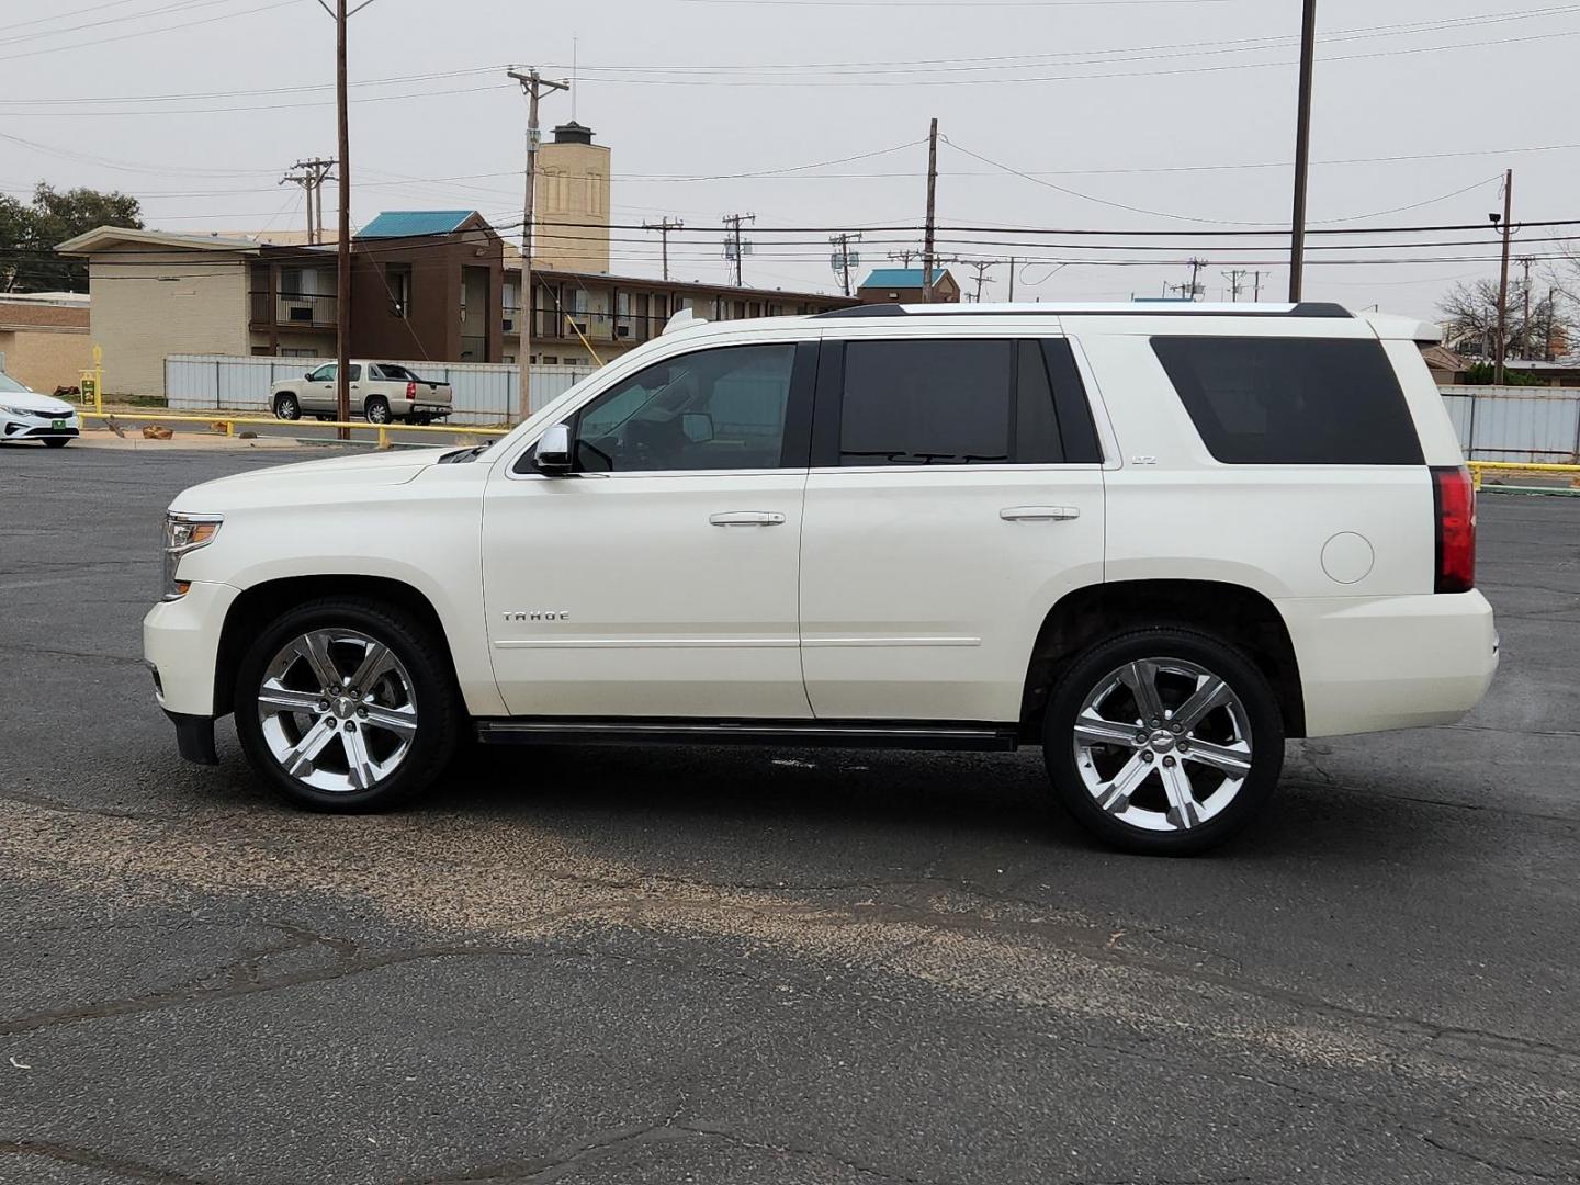
<path id="1" fill-rule="evenodd" d="M 1010 341 L 850 341 L 841 465 L 1003 465 Z"/>

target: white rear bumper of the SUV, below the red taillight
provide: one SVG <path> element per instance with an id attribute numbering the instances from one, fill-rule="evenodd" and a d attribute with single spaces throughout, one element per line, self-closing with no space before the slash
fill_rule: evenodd
<path id="1" fill-rule="evenodd" d="M 1307 736 L 1454 724 L 1498 672 L 1480 592 L 1275 604 L 1300 664 Z"/>

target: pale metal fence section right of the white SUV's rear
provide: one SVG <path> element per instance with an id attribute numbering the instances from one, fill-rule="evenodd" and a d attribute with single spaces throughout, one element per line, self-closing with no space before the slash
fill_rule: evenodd
<path id="1" fill-rule="evenodd" d="M 1580 389 L 1439 387 L 1473 461 L 1580 463 Z"/>

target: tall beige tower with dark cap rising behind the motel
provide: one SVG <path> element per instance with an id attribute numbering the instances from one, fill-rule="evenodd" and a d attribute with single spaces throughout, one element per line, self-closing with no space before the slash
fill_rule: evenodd
<path id="1" fill-rule="evenodd" d="M 532 267 L 608 272 L 608 149 L 572 120 L 537 150 Z"/>

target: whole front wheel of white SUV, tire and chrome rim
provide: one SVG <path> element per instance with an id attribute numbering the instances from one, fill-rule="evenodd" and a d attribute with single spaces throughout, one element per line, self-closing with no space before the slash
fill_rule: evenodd
<path id="1" fill-rule="evenodd" d="M 376 600 L 281 615 L 237 672 L 242 750 L 275 790 L 316 811 L 382 811 L 422 793 L 465 724 L 444 641 Z"/>

